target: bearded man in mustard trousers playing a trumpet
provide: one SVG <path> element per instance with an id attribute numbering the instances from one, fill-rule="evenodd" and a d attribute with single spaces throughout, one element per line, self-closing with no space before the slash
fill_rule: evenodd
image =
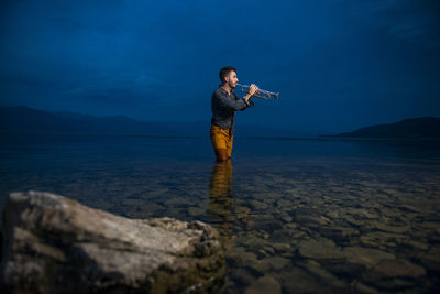
<path id="1" fill-rule="evenodd" d="M 254 104 L 250 100 L 258 91 L 258 87 L 252 84 L 243 99 L 235 94 L 237 69 L 227 66 L 220 69 L 221 85 L 212 94 L 212 119 L 210 139 L 217 162 L 226 163 L 232 154 L 233 132 L 235 124 L 235 111 L 244 110 Z"/>

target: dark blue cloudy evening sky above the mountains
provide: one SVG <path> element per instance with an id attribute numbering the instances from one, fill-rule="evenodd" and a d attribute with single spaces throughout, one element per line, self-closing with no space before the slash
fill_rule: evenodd
<path id="1" fill-rule="evenodd" d="M 231 65 L 280 92 L 238 124 L 316 134 L 440 117 L 438 0 L 3 0 L 0 40 L 3 106 L 209 121 Z"/>

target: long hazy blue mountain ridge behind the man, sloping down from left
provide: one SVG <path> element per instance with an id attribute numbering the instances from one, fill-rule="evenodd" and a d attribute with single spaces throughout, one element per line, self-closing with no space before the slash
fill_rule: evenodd
<path id="1" fill-rule="evenodd" d="M 68 111 L 44 111 L 25 106 L 0 106 L 0 132 L 12 133 L 109 133 L 147 135 L 208 137 L 210 113 L 206 121 L 145 122 L 124 116 L 97 117 Z M 246 135 L 289 135 L 283 128 L 238 123 L 237 133 Z"/>

